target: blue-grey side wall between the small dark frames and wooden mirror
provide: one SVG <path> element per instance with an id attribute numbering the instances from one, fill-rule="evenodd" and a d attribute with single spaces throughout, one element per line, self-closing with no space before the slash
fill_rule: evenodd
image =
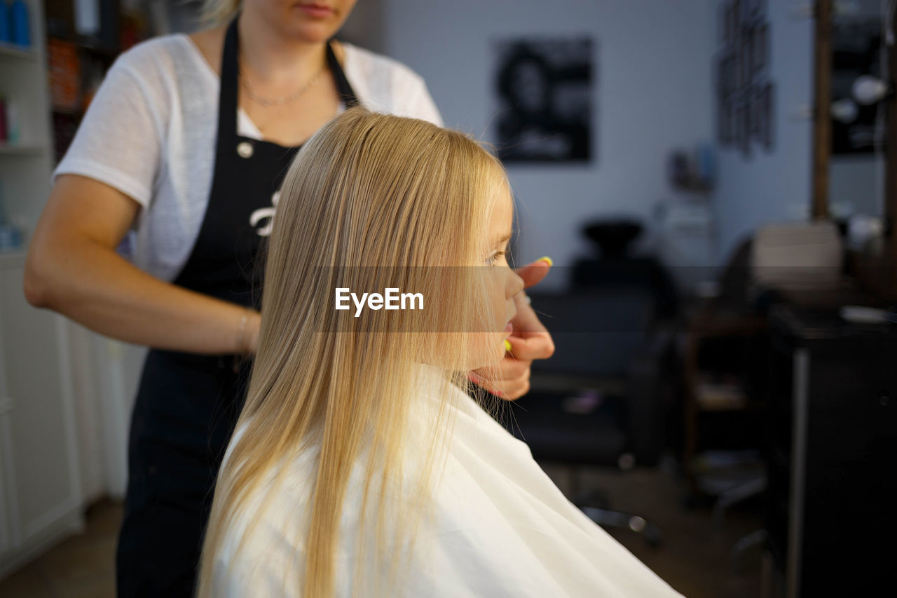
<path id="1" fill-rule="evenodd" d="M 776 86 L 773 151 L 767 154 L 753 145 L 753 154 L 746 159 L 732 147 L 719 153 L 714 202 L 721 259 L 758 225 L 805 220 L 809 215 L 814 22 L 795 13 L 798 5 L 784 0 L 767 3 L 770 77 Z"/>

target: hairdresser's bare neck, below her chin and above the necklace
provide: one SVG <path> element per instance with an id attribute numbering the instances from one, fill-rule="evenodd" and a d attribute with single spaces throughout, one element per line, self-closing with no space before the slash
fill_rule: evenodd
<path id="1" fill-rule="evenodd" d="M 304 80 L 326 60 L 326 42 L 288 37 L 249 5 L 240 13 L 237 29 L 243 66 L 260 78 Z"/>

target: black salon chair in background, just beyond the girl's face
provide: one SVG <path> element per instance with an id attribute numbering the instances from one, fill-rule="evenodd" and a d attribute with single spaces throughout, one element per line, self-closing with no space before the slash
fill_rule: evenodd
<path id="1" fill-rule="evenodd" d="M 510 403 L 503 423 L 536 461 L 570 467 L 571 500 L 593 521 L 631 529 L 657 545 L 660 532 L 646 518 L 610 509 L 600 492 L 575 487 L 581 466 L 629 470 L 658 462 L 670 337 L 656 333 L 654 295 L 621 286 L 530 298 L 555 352 L 533 363 L 531 389 Z"/>

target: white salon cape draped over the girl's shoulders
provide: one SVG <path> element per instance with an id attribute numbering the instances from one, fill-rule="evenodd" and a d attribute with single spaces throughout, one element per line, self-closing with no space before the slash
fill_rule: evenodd
<path id="1" fill-rule="evenodd" d="M 442 377 L 430 365 L 422 365 L 420 372 L 421 404 L 426 405 L 438 396 L 435 390 Z M 510 435 L 464 391 L 452 386 L 450 396 L 448 409 L 454 425 L 445 445 L 444 470 L 432 487 L 434 516 L 419 529 L 415 544 L 425 548 L 420 553 L 415 550 L 405 582 L 392 595 L 681 595 L 573 506 L 533 460 L 527 444 Z M 238 430 L 235 437 L 239 434 Z M 344 504 L 335 561 L 338 596 L 350 595 L 361 505 L 358 475 L 363 465 L 356 467 Z M 314 472 L 315 463 L 309 457 L 291 463 L 286 483 L 259 512 L 260 523 L 245 538 L 236 559 L 233 549 L 246 534 L 247 514 L 231 525 L 215 558 L 213 595 L 300 595 L 291 577 L 294 580 L 304 562 L 304 552 L 300 542 L 283 530 L 308 523 Z M 257 512 L 260 497 L 253 497 L 248 513 Z M 359 595 L 371 594 L 361 591 Z"/>

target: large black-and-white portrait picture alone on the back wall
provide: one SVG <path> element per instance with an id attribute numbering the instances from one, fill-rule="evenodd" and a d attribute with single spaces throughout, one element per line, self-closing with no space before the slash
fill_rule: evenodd
<path id="1" fill-rule="evenodd" d="M 493 48 L 497 111 L 492 122 L 501 160 L 593 160 L 592 40 L 499 40 Z"/>

